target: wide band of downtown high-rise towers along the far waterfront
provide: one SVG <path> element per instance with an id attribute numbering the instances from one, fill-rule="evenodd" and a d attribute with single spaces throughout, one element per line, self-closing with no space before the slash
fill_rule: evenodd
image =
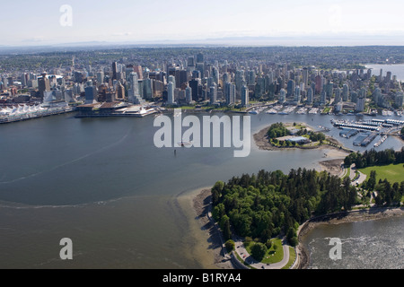
<path id="1" fill-rule="evenodd" d="M 143 61 L 145 63 L 145 61 Z M 83 65 L 72 57 L 48 71 L 2 73 L 0 104 L 66 102 L 91 106 L 125 102 L 168 107 L 208 105 L 248 108 L 251 102 L 331 107 L 334 112 L 402 109 L 401 84 L 390 71 L 334 71 L 243 57 L 231 60 L 201 52 L 149 59 L 137 65 L 126 58 Z"/>

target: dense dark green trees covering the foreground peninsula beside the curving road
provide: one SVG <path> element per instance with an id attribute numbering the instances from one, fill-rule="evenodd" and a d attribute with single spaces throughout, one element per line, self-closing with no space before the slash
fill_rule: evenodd
<path id="1" fill-rule="evenodd" d="M 213 216 L 225 237 L 231 236 L 232 227 L 238 235 L 265 243 L 283 231 L 296 244 L 299 224 L 312 214 L 350 210 L 356 203 L 356 187 L 349 178 L 343 181 L 327 172 L 299 168 L 285 175 L 260 170 L 257 175 L 216 182 L 212 199 Z"/>

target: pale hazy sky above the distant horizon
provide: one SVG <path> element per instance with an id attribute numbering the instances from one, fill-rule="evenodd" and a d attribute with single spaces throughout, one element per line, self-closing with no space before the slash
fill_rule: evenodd
<path id="1" fill-rule="evenodd" d="M 71 13 L 60 8 L 71 7 Z M 402 0 L 54 0 L 2 3 L 0 45 L 377 35 L 404 44 Z M 390 43 L 391 44 L 391 43 Z"/>

